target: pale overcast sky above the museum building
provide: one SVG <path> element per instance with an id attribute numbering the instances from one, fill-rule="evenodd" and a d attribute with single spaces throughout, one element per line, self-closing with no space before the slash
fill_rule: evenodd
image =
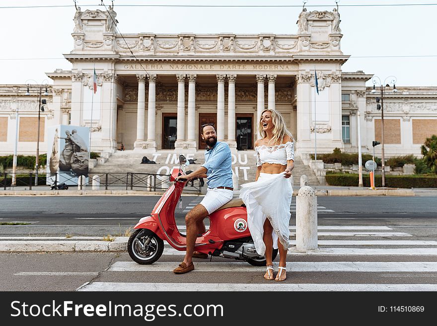
<path id="1" fill-rule="evenodd" d="M 82 11 L 105 10 L 100 0 L 77 0 Z M 106 6 L 111 1 L 103 1 Z M 346 6 L 353 4 L 433 3 L 435 0 L 340 0 L 341 49 L 351 55 L 343 71 L 363 70 L 382 80 L 397 77 L 396 86 L 437 86 L 437 5 Z M 298 5 L 298 7 L 134 7 L 127 4 Z M 69 7 L 5 8 L 68 5 Z M 343 6 L 342 6 L 343 5 Z M 334 0 L 309 0 L 309 11 L 330 10 Z M 296 34 L 301 0 L 115 0 L 121 33 L 277 33 Z M 73 49 L 73 0 L 0 0 L 0 84 L 38 83 L 45 72 L 71 69 L 63 59 Z M 380 58 L 374 58 L 379 56 Z M 393 56 L 399 56 L 393 58 Z M 416 57 L 402 57 L 416 56 Z M 429 56 L 429 57 L 426 57 Z M 432 57 L 434 56 L 434 57 Z M 366 57 L 366 58 L 359 58 Z M 372 57 L 372 58 L 369 58 Z M 391 57 L 391 58 L 381 58 Z M 369 81 L 367 85 L 371 85 Z"/>

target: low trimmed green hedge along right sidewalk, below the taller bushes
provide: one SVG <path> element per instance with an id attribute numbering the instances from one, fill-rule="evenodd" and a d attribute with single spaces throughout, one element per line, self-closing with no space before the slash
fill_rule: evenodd
<path id="1" fill-rule="evenodd" d="M 326 182 L 330 186 L 358 186 L 358 174 L 327 174 Z M 363 175 L 364 187 L 370 187 L 370 177 Z M 375 175 L 375 187 L 382 186 L 382 176 Z M 391 188 L 437 188 L 435 175 L 385 176 L 385 186 Z"/>

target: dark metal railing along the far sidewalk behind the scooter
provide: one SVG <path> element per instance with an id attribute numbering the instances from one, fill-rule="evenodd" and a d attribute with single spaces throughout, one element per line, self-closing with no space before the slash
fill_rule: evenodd
<path id="1" fill-rule="evenodd" d="M 44 173 L 38 175 L 38 186 L 35 186 L 34 173 L 2 173 L 0 174 L 0 190 L 137 190 L 148 192 L 166 191 L 173 182 L 168 174 L 151 173 L 96 173 L 94 175 L 77 177 L 68 172 L 56 174 Z M 202 193 L 203 180 L 198 179 L 187 183 L 184 192 Z"/>

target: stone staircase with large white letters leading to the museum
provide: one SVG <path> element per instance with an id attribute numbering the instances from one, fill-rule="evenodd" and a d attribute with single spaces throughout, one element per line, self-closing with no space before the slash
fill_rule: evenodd
<path id="1" fill-rule="evenodd" d="M 141 164 L 143 156 L 149 160 L 155 161 L 156 164 Z M 196 164 L 190 164 L 186 167 L 188 170 L 198 169 L 204 162 L 203 151 L 197 153 L 185 154 L 188 159 L 194 159 Z M 126 184 L 128 172 L 146 173 L 146 174 L 169 174 L 173 167 L 179 167 L 179 155 L 173 150 L 161 150 L 155 154 L 137 152 L 133 150 L 116 151 L 112 154 L 105 163 L 98 164 L 90 169 L 90 177 L 93 175 L 100 176 L 100 182 L 103 183 L 105 173 L 109 173 L 108 183 L 111 185 L 117 184 L 117 179 L 120 183 Z M 232 171 L 238 176 L 239 185 L 255 181 L 256 176 L 256 158 L 254 150 L 238 151 L 232 154 Z M 309 166 L 304 165 L 302 160 L 296 156 L 294 160 L 293 179 L 294 187 L 300 186 L 300 176 L 305 174 L 308 177 L 309 185 L 319 185 L 319 181 L 314 172 Z M 206 186 L 206 185 L 205 185 Z"/>

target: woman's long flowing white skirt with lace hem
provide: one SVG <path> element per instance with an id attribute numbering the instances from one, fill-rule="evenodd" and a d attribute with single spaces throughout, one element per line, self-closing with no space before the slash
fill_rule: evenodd
<path id="1" fill-rule="evenodd" d="M 278 248 L 278 239 L 284 249 L 290 244 L 290 178 L 283 173 L 260 173 L 256 182 L 241 186 L 240 198 L 247 208 L 247 224 L 259 255 L 264 255 L 266 246 L 263 241 L 264 222 L 269 219 L 273 226 L 273 248 Z"/>

